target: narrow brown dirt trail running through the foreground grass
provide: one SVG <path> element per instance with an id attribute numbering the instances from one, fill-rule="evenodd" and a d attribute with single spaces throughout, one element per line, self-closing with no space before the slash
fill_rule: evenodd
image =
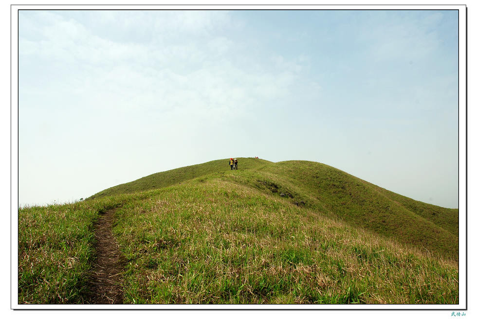
<path id="1" fill-rule="evenodd" d="M 95 224 L 97 260 L 90 283 L 91 303 L 94 304 L 123 303 L 121 272 L 124 267 L 111 232 L 115 211 L 116 208 L 101 214 Z"/>

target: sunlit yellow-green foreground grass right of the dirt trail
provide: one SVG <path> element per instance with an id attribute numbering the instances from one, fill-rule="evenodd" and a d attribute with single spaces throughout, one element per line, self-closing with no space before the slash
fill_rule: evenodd
<path id="1" fill-rule="evenodd" d="M 117 211 L 127 303 L 455 303 L 456 263 L 209 180 Z"/>

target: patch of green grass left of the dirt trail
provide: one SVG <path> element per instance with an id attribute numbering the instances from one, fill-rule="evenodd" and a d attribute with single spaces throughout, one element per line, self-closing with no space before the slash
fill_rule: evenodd
<path id="1" fill-rule="evenodd" d="M 140 197 L 137 195 L 136 197 Z M 134 196 L 18 210 L 18 303 L 85 303 L 99 213 Z"/>

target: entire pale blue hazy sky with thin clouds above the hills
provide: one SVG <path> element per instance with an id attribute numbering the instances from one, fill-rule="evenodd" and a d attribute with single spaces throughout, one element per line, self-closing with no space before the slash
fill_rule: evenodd
<path id="1" fill-rule="evenodd" d="M 458 207 L 458 11 L 18 19 L 20 205 L 258 156 Z"/>

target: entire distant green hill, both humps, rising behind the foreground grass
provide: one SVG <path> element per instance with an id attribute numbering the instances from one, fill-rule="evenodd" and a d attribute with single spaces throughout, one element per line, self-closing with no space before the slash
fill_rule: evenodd
<path id="1" fill-rule="evenodd" d="M 90 198 L 219 179 L 282 197 L 296 206 L 341 220 L 352 227 L 372 230 L 405 245 L 458 260 L 457 209 L 413 200 L 318 162 L 274 163 L 238 158 L 238 171 L 231 171 L 227 162 L 228 159 L 220 159 L 152 174 Z"/>

